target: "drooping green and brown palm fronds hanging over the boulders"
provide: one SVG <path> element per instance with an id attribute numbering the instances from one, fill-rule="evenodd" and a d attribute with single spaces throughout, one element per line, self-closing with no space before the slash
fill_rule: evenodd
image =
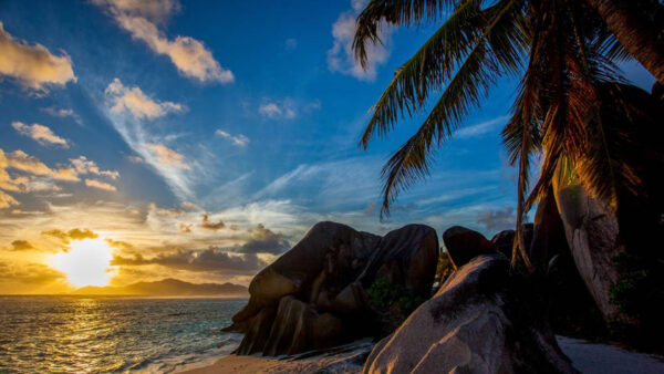
<path id="1" fill-rule="evenodd" d="M 513 113 L 502 129 L 510 160 L 519 169 L 512 266 L 519 253 L 532 270 L 521 222 L 551 188 L 557 170 L 572 168 L 593 196 L 613 206 L 619 188 L 640 188 L 633 165 L 609 147 L 600 115 L 600 87 L 622 82 L 616 63 L 629 53 L 585 1 L 371 0 L 356 21 L 356 59 L 366 64 L 367 45 L 381 42 L 385 22 L 436 22 L 447 11 L 447 20 L 397 69 L 360 142 L 366 148 L 400 118 L 424 111 L 430 95 L 442 91 L 422 126 L 383 168 L 381 214 L 390 212 L 401 190 L 428 175 L 434 148 L 453 136 L 497 80 L 517 76 Z M 623 103 L 615 87 L 612 97 Z M 543 156 L 540 176 L 527 197 L 530 158 L 538 152 Z"/>

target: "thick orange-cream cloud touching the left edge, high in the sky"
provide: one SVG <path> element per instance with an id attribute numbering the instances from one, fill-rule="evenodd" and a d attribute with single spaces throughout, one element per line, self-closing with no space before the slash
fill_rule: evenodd
<path id="1" fill-rule="evenodd" d="M 4 31 L 0 22 L 0 75 L 15 79 L 24 87 L 48 92 L 50 85 L 76 81 L 66 53 L 52 54 L 41 44 L 30 45 Z"/>

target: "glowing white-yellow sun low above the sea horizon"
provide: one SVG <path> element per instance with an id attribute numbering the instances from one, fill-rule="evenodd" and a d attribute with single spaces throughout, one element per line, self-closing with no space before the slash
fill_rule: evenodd
<path id="1" fill-rule="evenodd" d="M 52 264 L 75 287 L 106 285 L 113 276 L 111 248 L 102 239 L 74 240 L 69 252 L 53 256 Z"/>

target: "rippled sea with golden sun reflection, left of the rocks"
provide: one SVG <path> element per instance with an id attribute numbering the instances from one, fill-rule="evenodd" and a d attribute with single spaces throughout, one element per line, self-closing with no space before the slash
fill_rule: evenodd
<path id="1" fill-rule="evenodd" d="M 167 373 L 214 362 L 246 300 L 0 297 L 0 373 Z"/>

